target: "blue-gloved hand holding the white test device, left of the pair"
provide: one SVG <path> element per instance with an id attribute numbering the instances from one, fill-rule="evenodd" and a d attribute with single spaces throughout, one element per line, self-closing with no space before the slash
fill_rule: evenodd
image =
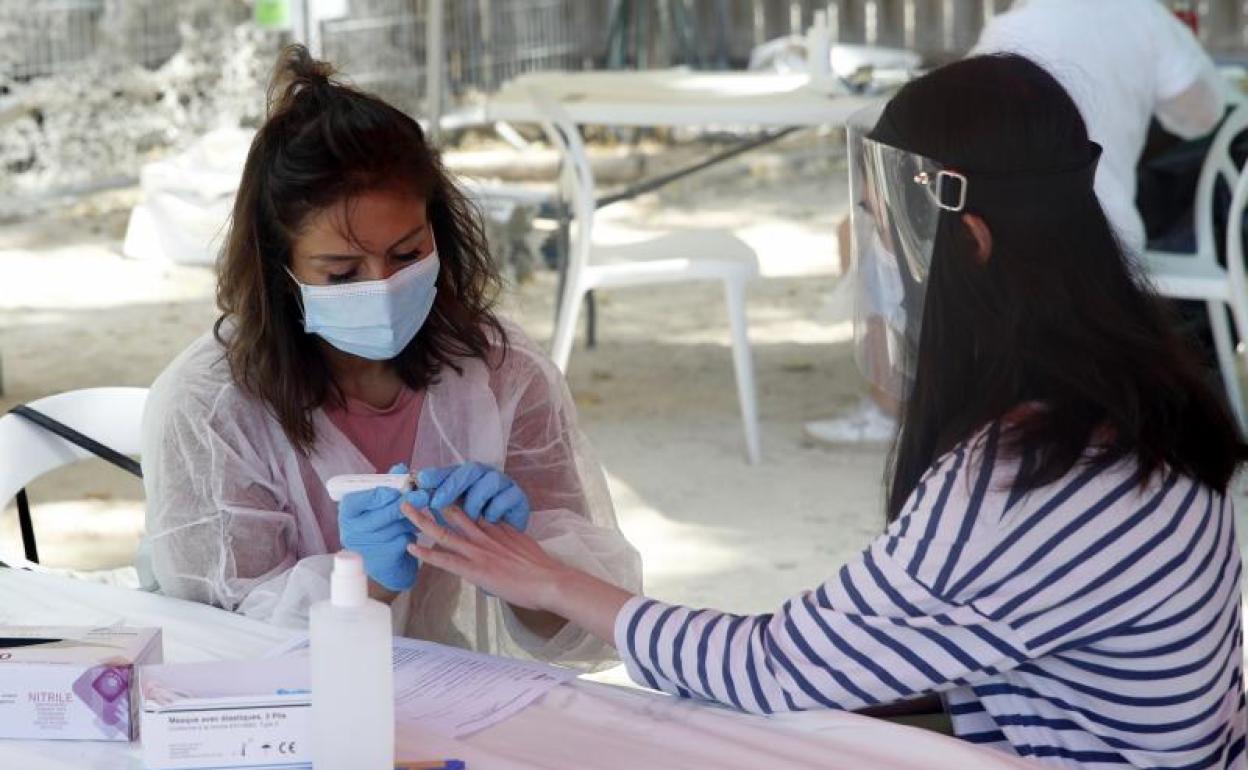
<path id="1" fill-rule="evenodd" d="M 407 473 L 407 467 L 394 465 L 389 472 Z M 363 557 L 364 572 L 388 590 L 412 588 L 421 568 L 421 562 L 407 552 L 408 543 L 416 539 L 416 525 L 399 510 L 403 499 L 413 505 L 427 502 L 417 494 L 374 487 L 352 492 L 338 503 L 342 547 Z"/>

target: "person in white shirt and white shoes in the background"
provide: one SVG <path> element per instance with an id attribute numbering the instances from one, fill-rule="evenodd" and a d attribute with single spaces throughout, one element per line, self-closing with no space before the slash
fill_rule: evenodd
<path id="1" fill-rule="evenodd" d="M 1071 95 L 1088 136 L 1104 149 L 1097 197 L 1127 251 L 1143 252 L 1136 166 L 1153 117 L 1196 139 L 1226 110 L 1222 80 L 1192 30 L 1159 0 L 1016 0 L 972 50 L 993 52 L 1031 59 Z M 882 444 L 895 431 L 896 404 L 877 388 L 850 413 L 805 427 L 807 438 L 825 444 Z"/>

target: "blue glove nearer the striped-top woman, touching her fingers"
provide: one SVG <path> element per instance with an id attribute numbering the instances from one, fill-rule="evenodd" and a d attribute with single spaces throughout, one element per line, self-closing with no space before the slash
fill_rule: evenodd
<path id="1" fill-rule="evenodd" d="M 423 505 L 436 514 L 456 500 L 463 500 L 468 518 L 504 522 L 524 532 L 529 525 L 529 498 L 505 473 L 480 463 L 446 468 L 426 468 L 416 475 L 419 485 L 413 495 L 423 495 Z M 416 503 L 413 503 L 414 505 Z"/>

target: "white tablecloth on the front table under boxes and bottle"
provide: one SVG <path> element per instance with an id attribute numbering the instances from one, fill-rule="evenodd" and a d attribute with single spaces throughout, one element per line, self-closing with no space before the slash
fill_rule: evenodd
<path id="1" fill-rule="evenodd" d="M 158 625 L 165 659 L 260 656 L 293 633 L 201 604 L 0 569 L 0 623 Z M 592 681 L 563 685 L 513 719 L 449 739 L 399 736 L 404 759 L 469 770 L 689 769 L 1036 770 L 1038 765 L 915 728 L 839 713 L 756 718 Z M 4 770 L 137 770 L 137 745 L 0 741 Z"/>

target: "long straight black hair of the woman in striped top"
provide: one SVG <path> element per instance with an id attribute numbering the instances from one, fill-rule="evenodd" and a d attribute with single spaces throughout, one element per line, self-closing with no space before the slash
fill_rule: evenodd
<path id="1" fill-rule="evenodd" d="M 912 81 L 874 139 L 967 175 L 1076 167 L 1090 147 L 1070 95 L 1012 55 Z M 941 454 L 993 423 L 1001 446 L 1027 461 L 1020 492 L 1083 462 L 1128 458 L 1146 478 L 1166 467 L 1224 490 L 1248 449 L 1096 195 L 1023 186 L 968 212 L 987 223 L 991 255 L 976 257 L 961 213 L 941 213 L 914 389 L 886 472 L 889 519 Z"/>

